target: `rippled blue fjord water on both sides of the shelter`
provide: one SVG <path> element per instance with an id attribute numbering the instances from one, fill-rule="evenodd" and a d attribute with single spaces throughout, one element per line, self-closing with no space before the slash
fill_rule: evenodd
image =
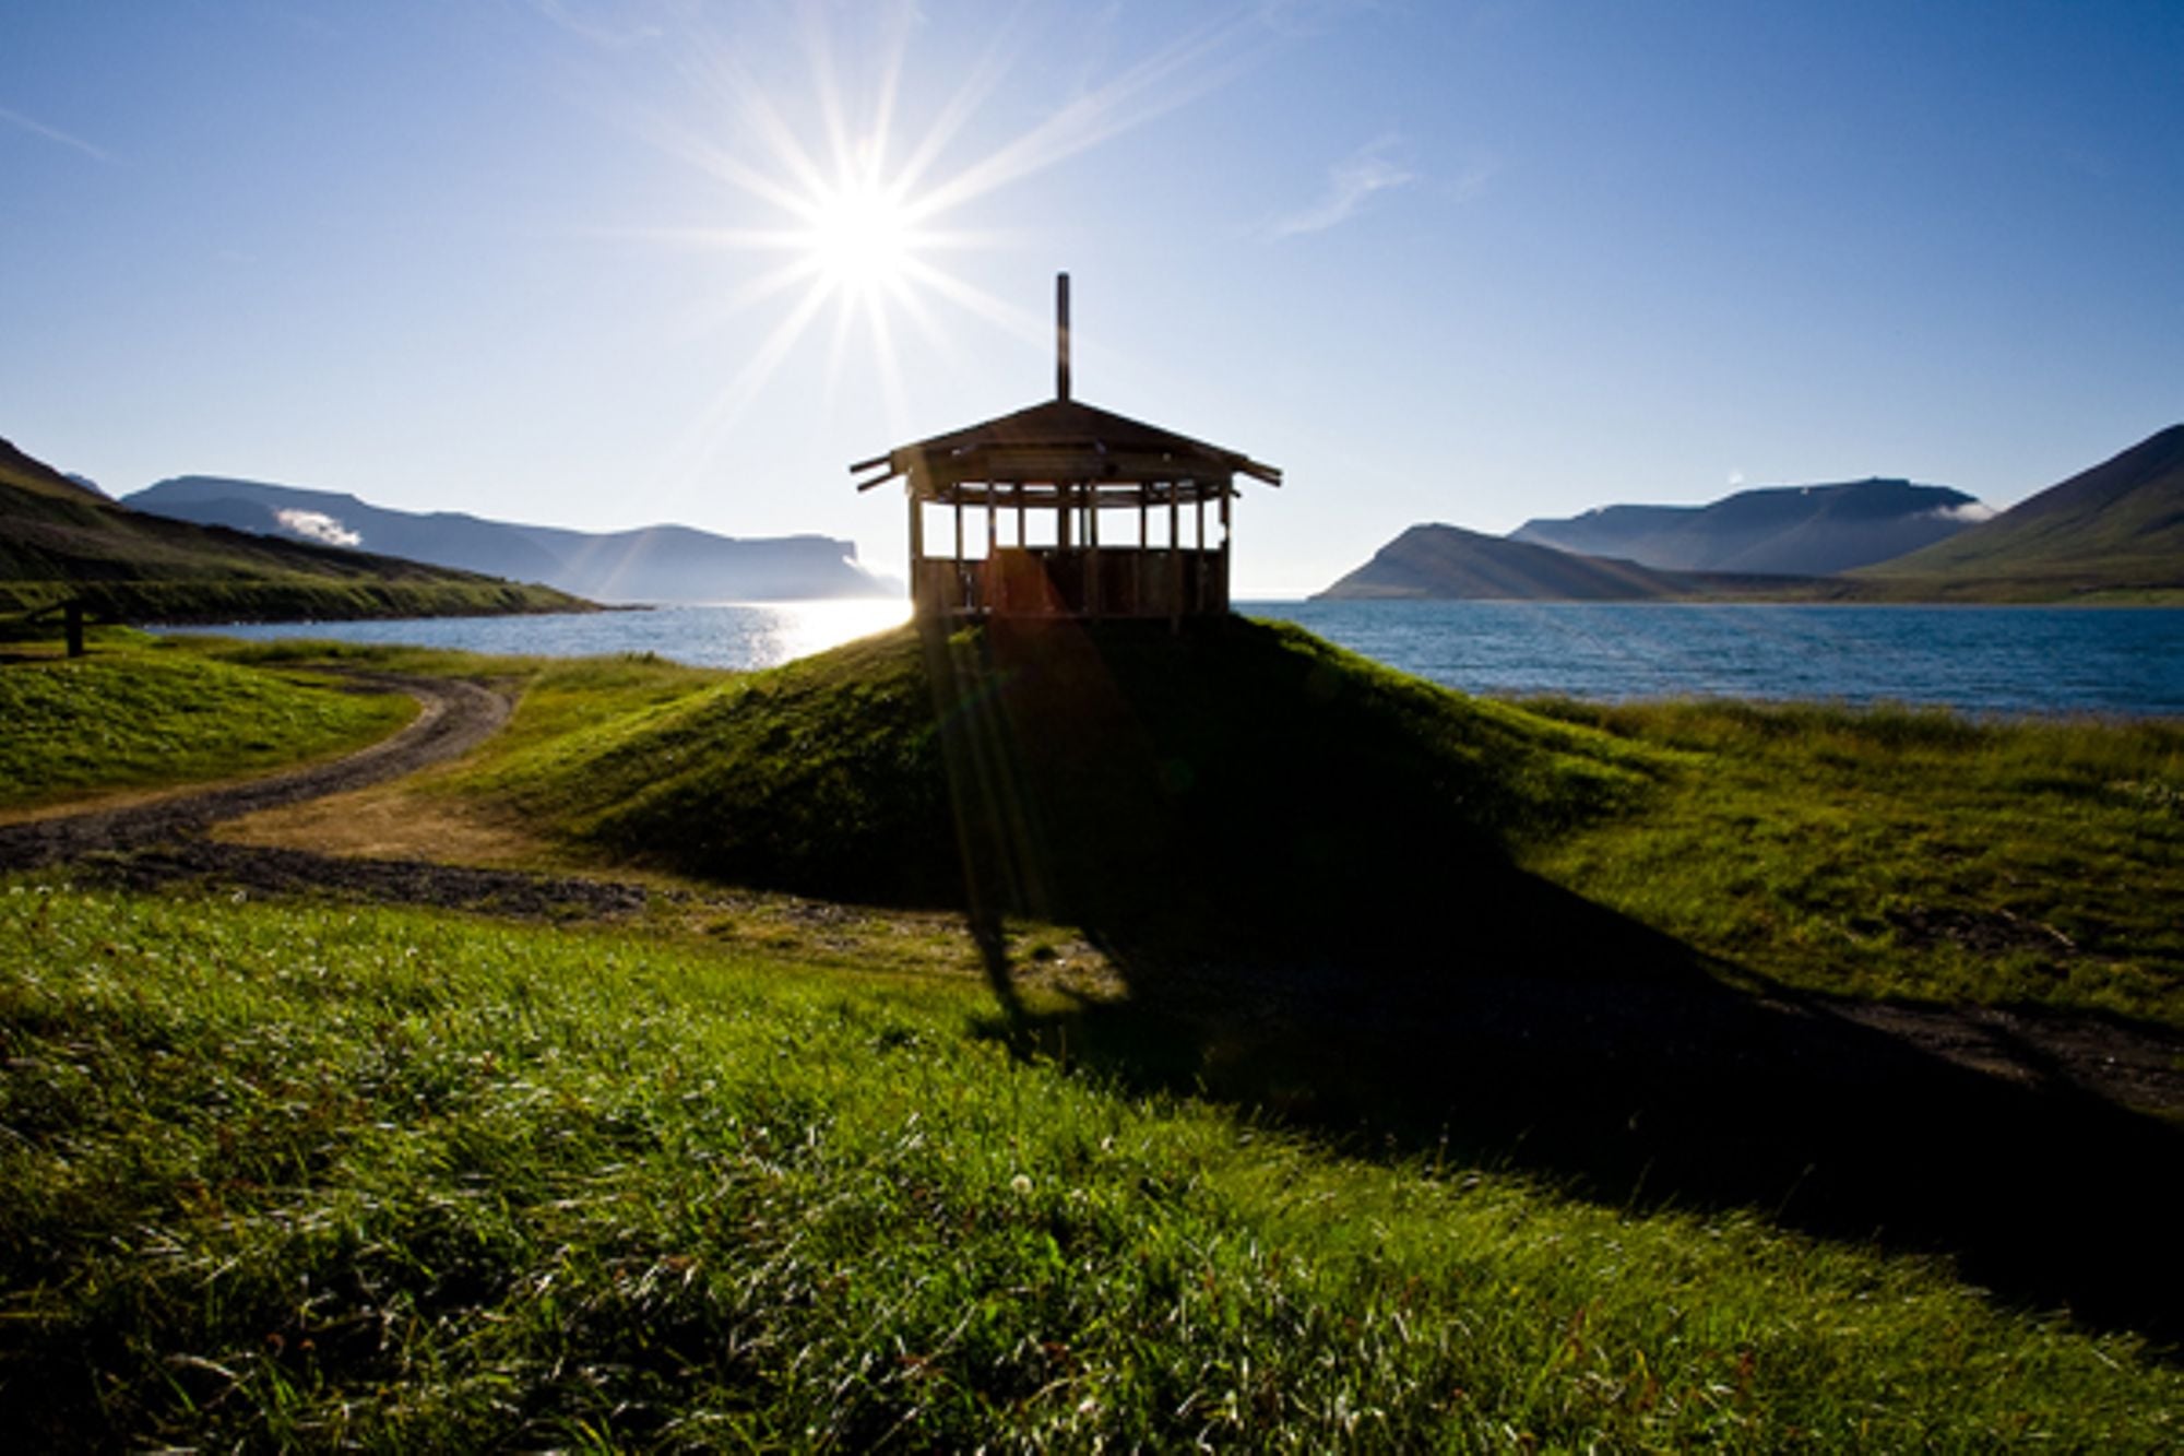
<path id="1" fill-rule="evenodd" d="M 2175 608 L 1245 601 L 1238 610 L 1293 621 L 1468 693 L 2184 715 L 2184 610 Z M 906 617 L 900 599 L 863 599 L 212 630 L 491 654 L 653 651 L 699 667 L 773 667 Z"/>

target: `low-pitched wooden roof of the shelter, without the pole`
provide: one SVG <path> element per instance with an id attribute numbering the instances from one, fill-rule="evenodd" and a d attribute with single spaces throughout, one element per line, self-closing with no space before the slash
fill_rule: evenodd
<path id="1" fill-rule="evenodd" d="M 919 468 L 943 481 L 1166 481 L 1201 470 L 1221 477 L 1249 474 L 1269 485 L 1282 483 L 1278 468 L 1262 466 L 1241 450 L 1223 450 L 1203 439 L 1094 409 L 1081 400 L 1031 404 L 983 424 L 895 446 L 887 455 L 850 466 L 850 470 L 878 470 L 880 466 L 885 466 L 880 474 L 858 481 L 856 488 L 871 490 Z"/>

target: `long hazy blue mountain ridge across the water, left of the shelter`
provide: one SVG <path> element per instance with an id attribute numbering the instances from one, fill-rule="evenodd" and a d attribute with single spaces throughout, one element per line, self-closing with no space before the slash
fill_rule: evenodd
<path id="1" fill-rule="evenodd" d="M 563 531 L 456 512 L 395 512 L 349 494 L 188 474 L 124 501 L 138 509 L 290 540 L 546 582 L 596 601 L 878 597 L 891 586 L 828 536 L 736 540 L 690 527 Z"/>

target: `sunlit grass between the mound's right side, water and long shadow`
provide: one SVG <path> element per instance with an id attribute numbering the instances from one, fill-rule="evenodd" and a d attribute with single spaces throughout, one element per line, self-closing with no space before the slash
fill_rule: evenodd
<path id="1" fill-rule="evenodd" d="M 1533 704 L 1673 767 L 1527 864 L 1769 979 L 2184 1025 L 2184 726 Z"/>

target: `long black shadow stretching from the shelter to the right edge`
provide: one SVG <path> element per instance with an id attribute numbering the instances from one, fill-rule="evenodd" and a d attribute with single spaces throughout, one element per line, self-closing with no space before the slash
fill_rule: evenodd
<path id="1" fill-rule="evenodd" d="M 2175 1126 L 1738 990 L 1725 973 L 1754 977 L 1514 868 L 1479 815 L 1452 818 L 1468 785 L 1424 791 L 1358 724 L 1254 721 L 1262 741 L 1206 759 L 1188 706 L 1138 695 L 1138 649 L 1002 638 L 976 689 L 1002 706 L 957 700 L 996 1034 L 1372 1156 L 1446 1148 L 1638 1209 L 1756 1209 L 2184 1340 Z M 1190 774 L 1225 787 L 1177 809 Z M 1026 1010 L 1007 909 L 1083 925 L 1129 995 Z"/>

